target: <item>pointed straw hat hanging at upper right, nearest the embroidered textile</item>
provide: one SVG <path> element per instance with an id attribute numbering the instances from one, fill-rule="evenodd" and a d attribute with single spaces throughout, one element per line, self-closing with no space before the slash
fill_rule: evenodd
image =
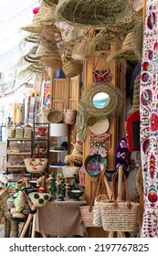
<path id="1" fill-rule="evenodd" d="M 140 57 L 135 53 L 134 42 L 137 41 L 136 34 L 132 31 L 124 39 L 121 50 L 116 51 L 112 54 L 107 62 L 112 59 L 129 59 L 129 60 L 139 60 Z"/>

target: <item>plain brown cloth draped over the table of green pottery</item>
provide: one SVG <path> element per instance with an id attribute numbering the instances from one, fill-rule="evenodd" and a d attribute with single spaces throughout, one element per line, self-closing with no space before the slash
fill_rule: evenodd
<path id="1" fill-rule="evenodd" d="M 79 212 L 79 207 L 85 205 L 87 202 L 80 197 L 79 201 L 70 198 L 65 201 L 56 199 L 43 208 L 37 208 L 37 232 L 58 237 L 85 237 L 86 229 Z"/>

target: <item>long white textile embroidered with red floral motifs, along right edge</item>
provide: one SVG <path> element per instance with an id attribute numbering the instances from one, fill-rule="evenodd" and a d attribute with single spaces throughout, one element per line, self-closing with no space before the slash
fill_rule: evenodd
<path id="1" fill-rule="evenodd" d="M 140 113 L 144 212 L 143 238 L 158 237 L 158 2 L 146 2 Z"/>

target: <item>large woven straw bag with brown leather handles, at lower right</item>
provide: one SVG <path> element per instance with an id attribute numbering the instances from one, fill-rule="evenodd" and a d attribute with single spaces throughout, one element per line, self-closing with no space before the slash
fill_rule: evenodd
<path id="1" fill-rule="evenodd" d="M 114 186 L 117 175 L 118 172 L 114 173 L 111 181 L 113 200 L 100 203 L 102 228 L 107 231 L 132 232 L 137 225 L 140 204 L 131 202 L 124 173 L 124 190 L 128 200 L 126 200 L 125 195 L 125 201 L 116 201 Z"/>

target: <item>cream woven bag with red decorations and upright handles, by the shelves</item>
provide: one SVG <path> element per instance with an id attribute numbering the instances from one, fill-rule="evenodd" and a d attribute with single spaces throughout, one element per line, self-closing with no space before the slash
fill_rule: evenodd
<path id="1" fill-rule="evenodd" d="M 41 175 L 43 172 L 45 172 L 45 169 L 47 168 L 48 159 L 41 158 L 39 146 L 37 146 L 37 150 L 37 155 L 39 155 L 39 158 L 35 158 L 33 154 L 32 158 L 25 158 L 24 162 L 26 165 L 26 171 L 28 173 Z"/>

